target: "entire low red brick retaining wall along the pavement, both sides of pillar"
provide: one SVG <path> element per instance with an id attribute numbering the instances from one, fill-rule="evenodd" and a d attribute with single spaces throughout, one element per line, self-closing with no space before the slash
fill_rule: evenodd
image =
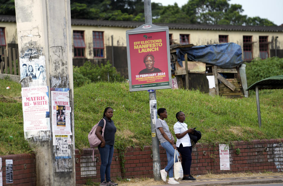
<path id="1" fill-rule="evenodd" d="M 283 139 L 235 141 L 229 146 L 230 170 L 220 170 L 219 146 L 214 147 L 197 144 L 192 152 L 191 173 L 194 175 L 207 173 L 239 173 L 239 172 L 283 172 Z M 239 148 L 240 154 L 235 150 Z M 161 168 L 167 164 L 165 150 L 159 146 Z M 153 177 L 153 160 L 151 147 L 128 147 L 125 156 L 125 178 Z M 91 179 L 100 181 L 100 154 L 92 149 L 75 150 L 76 184 L 82 185 Z M 35 156 L 32 154 L 17 154 L 0 156 L 2 158 L 3 185 L 36 185 Z M 13 159 L 14 183 L 6 184 L 5 159 Z M 96 161 L 98 159 L 98 162 Z M 24 169 L 26 164 L 26 169 Z M 111 164 L 111 178 L 121 177 L 119 152 L 115 149 Z"/>

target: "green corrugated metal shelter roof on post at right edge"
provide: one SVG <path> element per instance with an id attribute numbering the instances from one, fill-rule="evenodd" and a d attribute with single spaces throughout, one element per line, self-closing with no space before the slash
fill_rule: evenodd
<path id="1" fill-rule="evenodd" d="M 253 83 L 247 90 L 255 90 L 256 86 L 261 89 L 282 89 L 283 88 L 283 75 L 272 76 Z"/>

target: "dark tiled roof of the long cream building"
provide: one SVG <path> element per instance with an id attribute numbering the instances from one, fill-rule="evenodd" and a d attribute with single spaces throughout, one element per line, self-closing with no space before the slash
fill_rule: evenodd
<path id="1" fill-rule="evenodd" d="M 16 17 L 0 15 L 0 22 L 16 22 Z M 78 26 L 136 28 L 144 24 L 144 22 L 72 19 L 71 24 Z M 280 26 L 236 26 L 236 25 L 206 25 L 206 24 L 180 24 L 180 23 L 153 23 L 153 24 L 156 24 L 158 26 L 168 26 L 169 29 L 181 29 L 181 30 L 283 32 L 283 27 Z"/>

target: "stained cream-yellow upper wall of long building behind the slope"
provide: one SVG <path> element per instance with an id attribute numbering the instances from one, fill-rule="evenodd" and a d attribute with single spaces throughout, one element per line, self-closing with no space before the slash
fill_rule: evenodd
<path id="1" fill-rule="evenodd" d="M 0 22 L 0 27 L 5 27 L 6 43 L 18 43 L 17 41 L 17 26 L 16 23 Z M 126 47 L 126 30 L 124 27 L 98 27 L 98 26 L 71 26 L 73 30 L 84 31 L 86 50 L 85 56 L 88 59 L 93 57 L 92 32 L 101 31 L 104 33 L 104 58 L 107 58 L 106 46 L 111 46 L 111 36 L 113 35 L 113 46 Z M 132 29 L 132 28 L 131 28 Z M 179 43 L 180 34 L 189 34 L 189 42 L 194 45 L 217 44 L 219 35 L 228 35 L 228 42 L 234 42 L 241 45 L 243 52 L 243 36 L 252 36 L 253 43 L 253 58 L 259 57 L 259 36 L 268 36 L 269 50 L 275 49 L 275 37 L 277 39 L 277 49 L 283 49 L 283 32 L 243 32 L 243 31 L 211 31 L 211 30 L 183 30 L 169 29 L 169 34 L 172 34 L 172 39 Z M 73 43 L 73 37 L 72 37 Z M 269 51 L 270 52 L 270 51 Z M 108 54 L 111 55 L 111 54 Z M 73 53 L 74 56 L 74 53 Z M 243 56 L 242 56 L 243 57 Z M 269 53 L 270 57 L 270 53 Z M 101 59 L 101 58 L 100 58 Z"/>

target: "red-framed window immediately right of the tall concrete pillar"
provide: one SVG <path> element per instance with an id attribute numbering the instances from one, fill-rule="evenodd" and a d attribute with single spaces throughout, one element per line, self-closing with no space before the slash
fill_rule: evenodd
<path id="1" fill-rule="evenodd" d="M 73 31 L 74 39 L 74 57 L 85 57 L 84 51 L 86 44 L 84 42 L 84 31 Z"/>

